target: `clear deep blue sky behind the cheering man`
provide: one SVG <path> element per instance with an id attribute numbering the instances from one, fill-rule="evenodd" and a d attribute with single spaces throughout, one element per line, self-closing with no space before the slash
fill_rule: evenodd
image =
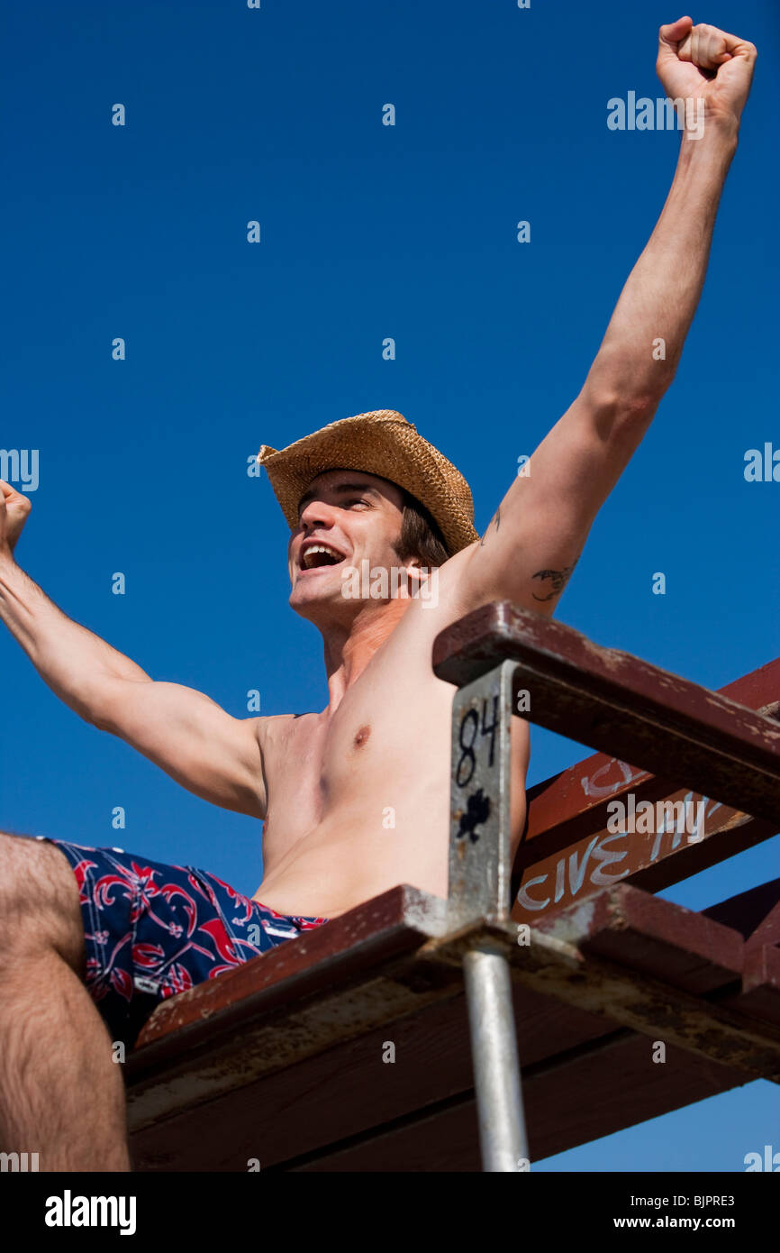
<path id="1" fill-rule="evenodd" d="M 558 616 L 717 688 L 780 653 L 780 484 L 742 474 L 747 449 L 780 447 L 780 14 L 690 13 L 751 39 L 756 79 L 676 381 Z M 20 564 L 153 678 L 237 717 L 252 688 L 263 713 L 322 708 L 319 637 L 287 606 L 287 530 L 247 459 L 397 408 L 464 471 L 486 525 L 578 392 L 666 197 L 679 137 L 610 132 L 606 101 L 661 94 L 657 28 L 677 16 L 666 0 L 8 13 L 0 447 L 40 451 Z M 0 672 L 3 826 L 257 888 L 257 823 L 80 722 L 5 632 Z M 532 743 L 532 783 L 585 756 Z M 777 876 L 779 851 L 666 895 L 701 908 Z M 741 1170 L 766 1143 L 780 1093 L 759 1081 L 538 1169 Z"/>

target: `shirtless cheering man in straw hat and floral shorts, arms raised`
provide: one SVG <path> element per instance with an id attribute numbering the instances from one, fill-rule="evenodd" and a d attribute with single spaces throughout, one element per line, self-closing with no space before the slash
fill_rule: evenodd
<path id="1" fill-rule="evenodd" d="M 136 855 L 123 860 L 121 851 L 0 834 L 0 1149 L 39 1152 L 44 1170 L 129 1169 L 121 1068 L 110 1049 L 116 1036 L 106 1031 L 106 999 L 93 999 L 85 986 L 90 975 L 94 992 L 100 975 L 94 965 L 85 970 L 86 954 L 99 952 L 100 944 L 100 935 L 88 936 L 89 908 L 104 910 L 95 931 L 119 905 L 125 927 L 130 903 L 143 906 L 160 946 L 163 936 L 168 944 L 182 931 L 169 926 L 180 900 L 208 912 L 198 931 L 205 967 L 193 976 L 177 957 L 174 981 L 163 992 L 158 987 L 159 999 L 219 972 L 217 954 L 222 970 L 268 947 L 230 930 L 244 907 L 247 917 L 257 910 L 265 937 L 278 942 L 398 883 L 447 896 L 453 689 L 432 673 L 433 638 L 491 600 L 555 611 L 593 519 L 680 361 L 755 55 L 751 44 L 712 26 L 694 28 L 690 18 L 661 28 L 664 90 L 671 99 L 704 101 L 704 133 L 697 127 L 682 134 L 660 221 L 582 391 L 533 454 L 531 472 L 512 482 L 482 540 L 464 481 L 392 411 L 332 424 L 280 454 L 260 451 L 292 525 L 290 605 L 324 642 L 329 700 L 322 713 L 235 719 L 198 692 L 150 679 L 68 619 L 16 565 L 14 545 L 30 505 L 3 485 L 0 615 L 45 682 L 81 718 L 120 736 L 183 787 L 264 819 L 265 831 L 264 877 L 253 902 L 215 887 L 219 881 L 190 876 L 190 868 L 177 880 L 175 867 L 143 860 L 139 866 Z M 700 115 L 694 110 L 694 117 Z M 666 345 L 660 361 L 659 338 Z M 373 437 L 379 429 L 384 444 Z M 402 538 L 404 509 L 411 541 Z M 338 564 L 326 564 L 327 553 L 313 556 L 318 548 L 333 550 Z M 421 580 L 422 591 L 437 566 L 436 603 L 422 594 L 344 595 L 347 566 L 359 570 L 364 561 L 372 573 L 419 571 L 411 578 Z M 525 817 L 525 722 L 516 720 L 512 742 L 516 847 Z M 382 822 L 387 807 L 396 811 L 392 829 Z M 114 905 L 95 892 L 93 871 L 104 857 L 115 871 L 108 875 Z M 158 873 L 170 873 L 169 890 Z M 157 895 L 148 898 L 150 882 Z M 123 892 L 123 883 L 131 891 Z M 223 888 L 227 906 L 218 898 Z M 164 906 L 168 915 L 159 912 Z M 207 933 L 217 937 L 213 951 Z M 115 949 L 118 936 L 110 932 Z M 140 975 L 138 966 L 130 974 L 116 969 L 110 994 L 131 996 L 133 1004 L 135 992 L 148 994 L 153 1007 L 157 985 L 144 981 L 144 970 L 154 944 L 136 945 L 139 936 L 133 930 L 125 949 L 133 947 Z M 187 936 L 178 942 L 188 947 Z M 103 945 L 110 947 L 105 937 Z"/>

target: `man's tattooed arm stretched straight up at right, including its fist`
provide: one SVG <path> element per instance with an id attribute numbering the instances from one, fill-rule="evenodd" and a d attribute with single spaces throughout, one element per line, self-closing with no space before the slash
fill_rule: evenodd
<path id="1" fill-rule="evenodd" d="M 700 133 L 682 133 L 666 204 L 582 391 L 531 456 L 527 476 L 512 484 L 481 543 L 463 561 L 454 559 L 463 608 L 510 599 L 555 611 L 598 509 L 675 376 L 701 294 L 755 58 L 752 44 L 715 26 L 692 26 L 690 18 L 661 26 L 661 84 L 671 99 L 691 101 L 689 109 L 704 118 L 704 127 L 699 120 Z M 660 340 L 664 360 L 654 351 Z"/>

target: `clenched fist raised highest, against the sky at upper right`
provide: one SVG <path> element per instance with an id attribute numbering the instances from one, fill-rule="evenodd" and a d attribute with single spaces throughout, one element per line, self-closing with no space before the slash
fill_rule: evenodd
<path id="1" fill-rule="evenodd" d="M 702 100 L 706 120 L 737 130 L 756 55 L 745 39 L 679 18 L 659 31 L 656 70 L 670 99 Z"/>

